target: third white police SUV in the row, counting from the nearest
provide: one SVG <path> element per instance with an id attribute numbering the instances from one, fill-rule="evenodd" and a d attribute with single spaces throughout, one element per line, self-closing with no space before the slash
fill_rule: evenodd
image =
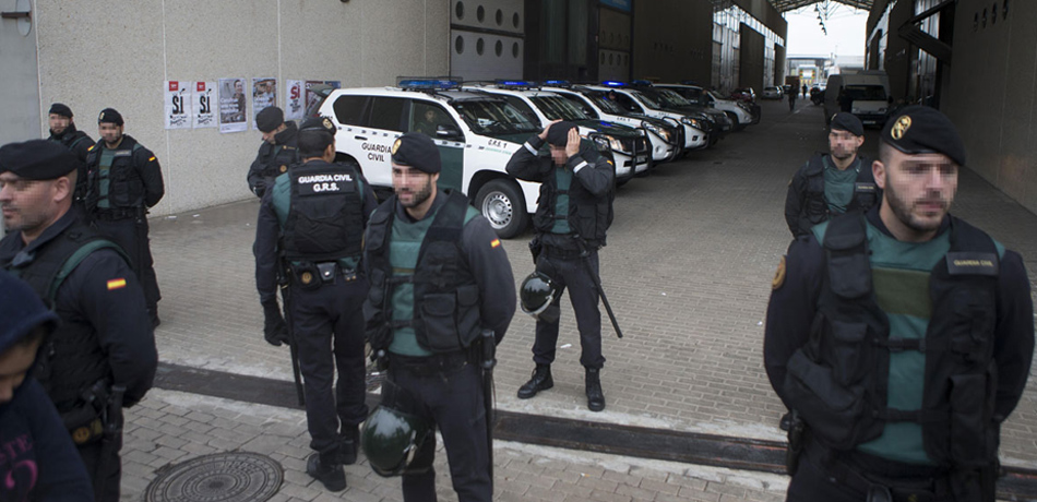
<path id="1" fill-rule="evenodd" d="M 600 119 L 623 124 L 631 128 L 641 128 L 648 138 L 652 147 L 652 160 L 665 163 L 680 156 L 684 147 L 683 128 L 676 119 L 668 117 L 654 118 L 646 115 L 631 113 L 605 97 L 592 97 L 577 91 L 565 81 L 546 81 L 545 91 L 550 91 L 573 101 L 576 107 L 592 119 Z"/>

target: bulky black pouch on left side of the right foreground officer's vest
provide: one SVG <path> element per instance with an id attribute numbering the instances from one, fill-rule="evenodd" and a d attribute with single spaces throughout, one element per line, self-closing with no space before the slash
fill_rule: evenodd
<path id="1" fill-rule="evenodd" d="M 839 385 L 831 368 L 811 361 L 802 349 L 792 355 L 787 369 L 785 394 L 815 438 L 836 450 L 872 439 L 858 438 L 870 420 L 863 387 Z"/>

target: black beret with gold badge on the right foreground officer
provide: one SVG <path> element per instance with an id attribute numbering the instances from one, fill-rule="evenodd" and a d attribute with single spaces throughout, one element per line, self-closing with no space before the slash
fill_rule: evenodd
<path id="1" fill-rule="evenodd" d="M 943 154 L 965 165 L 965 144 L 945 115 L 928 106 L 909 106 L 885 123 L 883 142 L 905 154 Z"/>

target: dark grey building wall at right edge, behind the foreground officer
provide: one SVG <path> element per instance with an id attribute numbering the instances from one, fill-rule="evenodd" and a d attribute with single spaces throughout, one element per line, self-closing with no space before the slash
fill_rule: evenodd
<path id="1" fill-rule="evenodd" d="M 991 22 L 991 5 L 998 19 Z M 1037 212 L 1037 2 L 961 0 L 943 111 L 958 127 L 968 167 Z M 986 25 L 981 21 L 984 11 Z M 979 22 L 975 20 L 979 17 Z"/>

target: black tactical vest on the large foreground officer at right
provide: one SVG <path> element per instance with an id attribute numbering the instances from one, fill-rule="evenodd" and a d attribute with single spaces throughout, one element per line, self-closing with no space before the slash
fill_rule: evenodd
<path id="1" fill-rule="evenodd" d="M 993 418 L 996 294 L 1000 259 L 993 240 L 951 218 L 951 249 L 933 267 L 925 337 L 890 338 L 872 287 L 866 219 L 829 223 L 825 268 L 810 339 L 788 361 L 785 393 L 814 438 L 850 450 L 890 422 L 921 425 L 926 454 L 939 465 L 980 467 L 997 456 Z M 926 355 L 921 408 L 886 406 L 890 354 Z"/>

